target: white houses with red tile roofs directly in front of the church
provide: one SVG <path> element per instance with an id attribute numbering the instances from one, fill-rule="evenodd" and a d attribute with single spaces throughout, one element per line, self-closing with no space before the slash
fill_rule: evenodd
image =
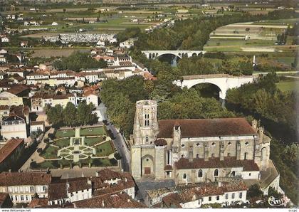
<path id="1" fill-rule="evenodd" d="M 247 187 L 241 178 L 223 178 L 218 182 L 179 185 L 146 191 L 145 204 L 152 208 L 200 208 L 219 203 L 230 206 L 247 203 Z"/>

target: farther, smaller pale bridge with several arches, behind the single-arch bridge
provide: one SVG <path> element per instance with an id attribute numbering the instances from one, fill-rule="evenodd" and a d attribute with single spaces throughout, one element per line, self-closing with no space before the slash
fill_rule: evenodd
<path id="1" fill-rule="evenodd" d="M 159 51 L 159 50 L 152 50 L 152 51 L 142 51 L 142 53 L 145 53 L 145 55 L 147 56 L 147 58 L 149 59 L 153 59 L 153 58 L 158 58 L 161 55 L 166 55 L 166 54 L 171 54 L 171 55 L 175 55 L 179 58 L 182 57 L 192 57 L 193 55 L 202 55 L 204 53 L 206 53 L 206 51 L 189 51 L 189 50 L 165 50 L 165 51 Z"/>

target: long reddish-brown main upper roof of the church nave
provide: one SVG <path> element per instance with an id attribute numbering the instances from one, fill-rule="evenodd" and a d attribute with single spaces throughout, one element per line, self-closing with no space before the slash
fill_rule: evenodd
<path id="1" fill-rule="evenodd" d="M 202 120 L 159 120 L 159 138 L 172 137 L 173 127 L 179 124 L 182 137 L 219 137 L 232 135 L 255 135 L 255 130 L 245 118 Z"/>

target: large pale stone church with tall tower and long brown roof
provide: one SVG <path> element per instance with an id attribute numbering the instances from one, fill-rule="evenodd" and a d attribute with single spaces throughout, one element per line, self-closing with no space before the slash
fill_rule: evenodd
<path id="1" fill-rule="evenodd" d="M 130 139 L 131 172 L 135 179 L 172 179 L 176 184 L 214 182 L 241 177 L 283 192 L 269 159 L 271 139 L 245 118 L 157 120 L 157 102 L 136 102 Z M 265 179 L 265 180 L 264 180 Z"/>

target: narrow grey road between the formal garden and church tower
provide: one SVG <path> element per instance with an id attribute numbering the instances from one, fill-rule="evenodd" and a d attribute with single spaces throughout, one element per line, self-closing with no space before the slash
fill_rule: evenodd
<path id="1" fill-rule="evenodd" d="M 113 133 L 115 139 L 113 139 L 113 144 L 115 145 L 117 152 L 122 156 L 121 163 L 122 169 L 124 171 L 130 171 L 130 150 L 127 148 L 125 139 L 122 137 L 122 134 L 114 127 L 113 124 L 108 122 L 107 129 L 110 129 Z"/>

